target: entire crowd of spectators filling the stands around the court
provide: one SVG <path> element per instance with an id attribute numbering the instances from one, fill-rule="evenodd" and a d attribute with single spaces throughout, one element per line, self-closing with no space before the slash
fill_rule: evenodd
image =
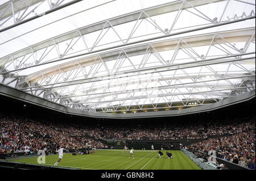
<path id="1" fill-rule="evenodd" d="M 104 140 L 203 139 L 189 149 L 255 169 L 255 116 L 203 123 L 165 123 L 148 125 L 85 125 L 0 115 L 0 154 L 29 153 L 32 150 L 85 148 L 86 143 L 104 148 Z"/>

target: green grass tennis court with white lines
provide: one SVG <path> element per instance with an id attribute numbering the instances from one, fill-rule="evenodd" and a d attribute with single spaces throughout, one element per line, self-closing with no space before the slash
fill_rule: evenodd
<path id="1" fill-rule="evenodd" d="M 80 169 L 101 170 L 201 170 L 182 151 L 171 150 L 173 158 L 166 158 L 166 151 L 162 158 L 158 158 L 156 151 L 134 151 L 134 159 L 129 158 L 129 152 L 121 150 L 97 150 L 95 154 L 72 155 L 64 154 L 58 166 L 75 167 Z M 46 164 L 57 161 L 59 155 L 47 155 Z M 13 162 L 38 164 L 38 157 L 10 159 Z"/>

